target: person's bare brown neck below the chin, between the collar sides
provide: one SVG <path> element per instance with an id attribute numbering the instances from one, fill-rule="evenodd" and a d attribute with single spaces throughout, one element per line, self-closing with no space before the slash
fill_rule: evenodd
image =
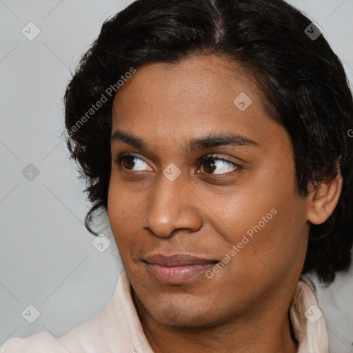
<path id="1" fill-rule="evenodd" d="M 171 327 L 155 321 L 132 291 L 132 298 L 148 343 L 154 353 L 296 353 L 288 305 L 257 310 L 212 327 Z"/>

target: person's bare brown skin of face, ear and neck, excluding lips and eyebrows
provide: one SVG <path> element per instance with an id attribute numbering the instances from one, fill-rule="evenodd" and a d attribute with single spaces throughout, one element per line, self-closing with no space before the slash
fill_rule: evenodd
<path id="1" fill-rule="evenodd" d="M 119 129 L 148 144 L 112 142 L 108 216 L 156 353 L 298 348 L 288 310 L 305 260 L 309 221 L 319 224 L 332 214 L 341 178 L 305 198 L 296 194 L 288 134 L 268 117 L 259 92 L 241 72 L 239 64 L 216 56 L 144 65 L 114 99 L 112 132 Z M 233 103 L 241 92 L 252 99 L 244 111 Z M 191 139 L 229 132 L 258 145 L 185 152 Z M 135 163 L 117 161 L 126 152 L 137 157 Z M 241 168 L 216 160 L 212 172 L 210 163 L 199 163 L 209 154 Z M 181 171 L 174 181 L 163 174 L 170 163 Z M 199 274 L 179 285 L 160 283 L 142 261 L 159 253 L 222 261 L 272 209 L 276 215 L 212 279 Z"/>

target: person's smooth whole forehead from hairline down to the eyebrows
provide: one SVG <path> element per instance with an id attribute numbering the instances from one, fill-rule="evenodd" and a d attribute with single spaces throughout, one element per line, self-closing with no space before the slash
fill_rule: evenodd
<path id="1" fill-rule="evenodd" d="M 161 143 L 213 132 L 276 139 L 274 130 L 283 130 L 272 126 L 250 74 L 215 56 L 139 68 L 114 98 L 112 125 Z"/>

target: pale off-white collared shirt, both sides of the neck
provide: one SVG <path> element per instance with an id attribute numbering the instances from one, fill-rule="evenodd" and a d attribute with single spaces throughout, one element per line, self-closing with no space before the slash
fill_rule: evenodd
<path id="1" fill-rule="evenodd" d="M 299 281 L 290 305 L 298 353 L 328 353 L 324 316 L 311 288 Z M 114 296 L 104 310 L 90 321 L 60 337 L 48 332 L 28 338 L 8 339 L 0 353 L 153 353 L 130 292 L 130 282 L 121 272 Z"/>

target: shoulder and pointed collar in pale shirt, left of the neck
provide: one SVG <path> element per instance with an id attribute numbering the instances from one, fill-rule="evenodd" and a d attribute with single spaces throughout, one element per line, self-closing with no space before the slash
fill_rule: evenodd
<path id="1" fill-rule="evenodd" d="M 129 285 L 128 279 L 121 276 L 103 311 L 63 336 L 40 332 L 27 338 L 14 337 L 0 347 L 0 353 L 129 352 L 131 336 L 135 341 L 143 336 Z"/>

